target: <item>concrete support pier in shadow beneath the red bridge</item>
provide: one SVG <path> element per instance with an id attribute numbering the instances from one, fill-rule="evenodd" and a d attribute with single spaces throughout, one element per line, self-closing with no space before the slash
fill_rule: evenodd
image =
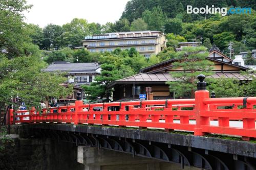
<path id="1" fill-rule="evenodd" d="M 180 164 L 132 156 L 132 154 L 116 152 L 97 147 L 78 146 L 77 161 L 84 164 L 84 170 L 167 170 L 181 169 Z M 185 167 L 185 169 L 199 169 Z"/>

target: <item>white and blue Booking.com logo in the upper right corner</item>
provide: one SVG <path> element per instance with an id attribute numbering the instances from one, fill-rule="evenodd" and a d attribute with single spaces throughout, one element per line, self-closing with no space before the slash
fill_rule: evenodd
<path id="1" fill-rule="evenodd" d="M 193 8 L 191 5 L 187 5 L 187 14 L 221 14 L 222 16 L 226 16 L 227 14 L 251 14 L 251 8 L 233 8 L 231 7 L 229 10 L 227 8 L 219 8 L 219 7 L 214 7 L 212 5 L 211 7 L 208 7 L 206 5 L 205 8 Z"/>

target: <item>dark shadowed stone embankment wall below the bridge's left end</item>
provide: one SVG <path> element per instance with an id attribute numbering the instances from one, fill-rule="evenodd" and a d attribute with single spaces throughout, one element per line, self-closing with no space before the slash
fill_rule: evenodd
<path id="1" fill-rule="evenodd" d="M 84 169 L 84 165 L 77 162 L 77 147 L 74 143 L 33 138 L 24 129 L 18 129 L 17 132 L 28 138 L 15 138 L 14 146 L 8 145 L 0 152 L 1 170 Z"/>

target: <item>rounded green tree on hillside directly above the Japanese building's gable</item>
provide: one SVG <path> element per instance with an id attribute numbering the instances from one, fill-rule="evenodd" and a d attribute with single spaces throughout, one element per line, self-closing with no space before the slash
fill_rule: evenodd
<path id="1" fill-rule="evenodd" d="M 235 37 L 236 35 L 234 35 L 232 32 L 222 32 L 214 35 L 214 43 L 220 48 L 220 50 L 223 50 L 228 46 L 230 41 L 234 41 Z"/>

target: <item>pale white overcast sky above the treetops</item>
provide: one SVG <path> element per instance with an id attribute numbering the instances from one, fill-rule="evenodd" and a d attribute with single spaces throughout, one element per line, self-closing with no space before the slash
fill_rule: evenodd
<path id="1" fill-rule="evenodd" d="M 24 12 L 25 22 L 41 28 L 49 23 L 62 26 L 73 18 L 87 19 L 88 22 L 115 22 L 120 18 L 129 0 L 27 0 L 33 5 Z"/>

